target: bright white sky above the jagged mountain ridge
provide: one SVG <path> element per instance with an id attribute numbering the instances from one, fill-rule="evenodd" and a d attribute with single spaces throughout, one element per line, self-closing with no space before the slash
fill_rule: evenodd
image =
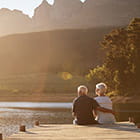
<path id="1" fill-rule="evenodd" d="M 0 0 L 0 8 L 18 9 L 23 13 L 33 16 L 34 9 L 41 4 L 43 0 Z M 46 0 L 53 4 L 54 0 Z M 85 0 L 81 0 L 84 2 Z"/>

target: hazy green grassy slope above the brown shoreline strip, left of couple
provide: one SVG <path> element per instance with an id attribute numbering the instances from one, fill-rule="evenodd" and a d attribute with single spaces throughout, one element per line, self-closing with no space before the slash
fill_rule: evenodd
<path id="1" fill-rule="evenodd" d="M 71 94 L 80 84 L 86 83 L 84 77 L 69 72 L 7 75 L 0 78 L 0 95 Z"/>

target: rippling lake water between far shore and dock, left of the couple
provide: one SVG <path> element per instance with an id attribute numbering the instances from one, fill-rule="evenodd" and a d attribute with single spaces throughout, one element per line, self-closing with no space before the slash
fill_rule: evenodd
<path id="1" fill-rule="evenodd" d="M 0 133 L 4 137 L 18 132 L 20 125 L 70 124 L 72 103 L 0 102 Z M 16 109 L 15 109 L 16 108 Z"/>

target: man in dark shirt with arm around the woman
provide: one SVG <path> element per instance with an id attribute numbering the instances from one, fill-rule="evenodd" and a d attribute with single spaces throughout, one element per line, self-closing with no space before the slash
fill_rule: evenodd
<path id="1" fill-rule="evenodd" d="M 95 120 L 93 111 L 101 110 L 112 113 L 112 110 L 100 107 L 100 105 L 91 97 L 87 96 L 88 89 L 81 85 L 78 87 L 78 97 L 73 101 L 73 116 L 75 117 L 73 123 L 79 125 L 98 124 Z"/>

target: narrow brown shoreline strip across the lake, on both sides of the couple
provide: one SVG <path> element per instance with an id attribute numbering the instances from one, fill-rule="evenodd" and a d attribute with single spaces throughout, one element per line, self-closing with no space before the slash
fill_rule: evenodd
<path id="1" fill-rule="evenodd" d="M 49 93 L 49 94 L 5 94 L 0 95 L 0 102 L 56 102 L 56 103 L 68 103 L 73 102 L 77 94 L 75 93 Z M 89 94 L 91 96 L 91 94 Z M 92 96 L 91 96 L 92 97 Z M 140 103 L 140 96 L 123 97 L 114 96 L 111 97 L 113 103 Z"/>

